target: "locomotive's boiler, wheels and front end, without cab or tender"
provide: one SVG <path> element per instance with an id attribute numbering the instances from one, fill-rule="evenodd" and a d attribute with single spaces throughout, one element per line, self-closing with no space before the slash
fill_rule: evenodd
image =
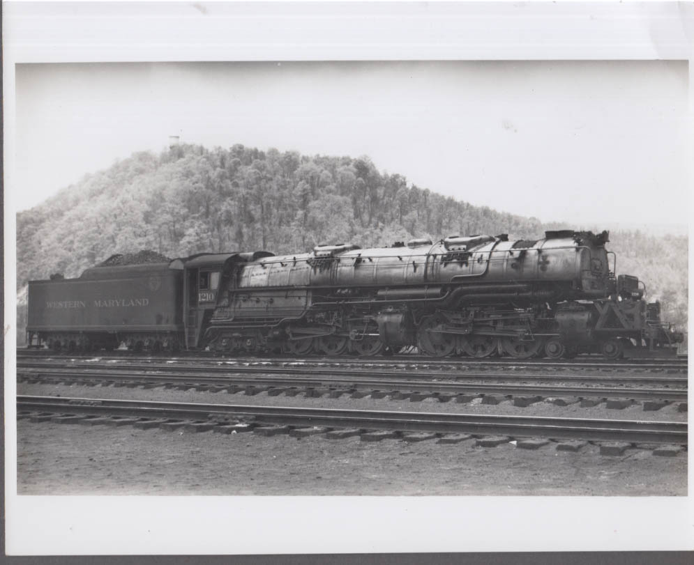
<path id="1" fill-rule="evenodd" d="M 607 241 L 607 232 L 453 235 L 230 261 L 205 337 L 215 350 L 296 355 L 405 346 L 437 357 L 673 353 L 681 334 L 666 331 L 638 279 L 614 277 Z"/>

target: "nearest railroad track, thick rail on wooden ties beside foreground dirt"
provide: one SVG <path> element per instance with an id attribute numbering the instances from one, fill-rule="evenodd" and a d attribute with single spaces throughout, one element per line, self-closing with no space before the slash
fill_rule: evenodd
<path id="1" fill-rule="evenodd" d="M 399 433 L 472 434 L 508 438 L 550 440 L 618 441 L 644 444 L 687 443 L 687 424 L 668 421 L 598 420 L 556 417 L 518 417 L 383 410 L 335 410 L 328 408 L 283 408 L 226 404 L 172 403 L 17 396 L 17 413 L 36 421 L 71 421 L 86 417 L 130 418 L 127 423 L 204 424 L 234 431 L 234 426 L 312 426 L 321 431 L 352 429 Z M 61 416 L 51 416 L 61 415 Z M 57 419 L 56 419 L 57 418 Z M 209 429 L 209 428 L 208 428 Z"/>

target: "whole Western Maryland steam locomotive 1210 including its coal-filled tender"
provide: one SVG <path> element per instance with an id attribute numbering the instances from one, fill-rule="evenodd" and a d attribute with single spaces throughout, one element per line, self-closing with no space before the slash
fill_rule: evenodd
<path id="1" fill-rule="evenodd" d="M 539 240 L 453 235 L 392 247 L 199 254 L 29 283 L 30 347 L 435 357 L 674 355 L 637 277 L 615 277 L 608 232 Z M 612 255 L 612 270 L 610 270 Z"/>

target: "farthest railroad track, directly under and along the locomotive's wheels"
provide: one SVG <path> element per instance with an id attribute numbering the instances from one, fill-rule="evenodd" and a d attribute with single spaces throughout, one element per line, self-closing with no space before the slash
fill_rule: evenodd
<path id="1" fill-rule="evenodd" d="M 393 355 L 392 357 L 284 357 L 265 356 L 265 357 L 221 357 L 218 354 L 209 352 L 192 352 L 184 355 L 176 355 L 175 357 L 163 356 L 142 356 L 135 355 L 128 351 L 117 351 L 101 355 L 100 353 L 54 353 L 50 350 L 29 350 L 17 349 L 17 359 L 90 359 L 98 357 L 99 359 L 117 361 L 122 359 L 140 360 L 172 360 L 177 362 L 190 362 L 192 360 L 208 360 L 218 362 L 236 362 L 236 363 L 329 363 L 333 365 L 349 365 L 349 364 L 369 364 L 369 365 L 384 365 L 393 366 L 395 364 L 413 364 L 427 365 L 439 367 L 442 370 L 450 368 L 458 368 L 460 366 L 479 366 L 479 367 L 534 367 L 546 369 L 599 369 L 599 370 L 629 370 L 629 369 L 647 369 L 647 370 L 667 370 L 678 369 L 686 371 L 688 359 L 686 356 L 678 356 L 666 359 L 621 359 L 619 361 L 608 362 L 600 357 L 584 355 L 575 359 L 564 359 L 555 361 L 552 359 L 476 359 L 474 357 L 456 357 L 454 359 L 437 359 L 435 357 L 425 357 L 422 355 Z"/>

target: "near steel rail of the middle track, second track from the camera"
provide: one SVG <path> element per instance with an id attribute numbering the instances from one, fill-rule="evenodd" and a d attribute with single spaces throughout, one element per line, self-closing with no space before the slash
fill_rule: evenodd
<path id="1" fill-rule="evenodd" d="M 489 382 L 460 383 L 423 380 L 390 380 L 380 378 L 352 379 L 335 377 L 269 377 L 269 376 L 206 376 L 198 374 L 153 374 L 125 371 L 55 371 L 48 373 L 24 373 L 25 378 L 52 378 L 55 380 L 85 380 L 88 382 L 136 382 L 139 384 L 172 384 L 176 386 L 218 385 L 220 387 L 266 387 L 281 389 L 347 389 L 391 392 L 426 392 L 430 394 L 497 394 L 501 396 L 578 396 L 579 398 L 629 398 L 632 400 L 667 400 L 684 402 L 687 400 L 686 389 L 645 389 L 626 387 L 573 387 L 537 386 L 518 384 L 496 384 Z M 379 376 L 377 376 L 379 377 Z M 686 379 L 684 380 L 686 384 Z"/>

